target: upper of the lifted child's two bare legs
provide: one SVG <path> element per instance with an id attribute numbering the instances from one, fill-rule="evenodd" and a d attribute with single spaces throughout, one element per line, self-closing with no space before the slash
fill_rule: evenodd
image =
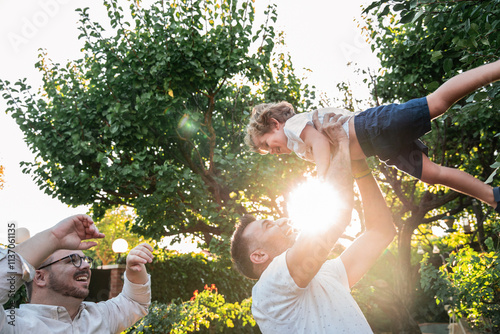
<path id="1" fill-rule="evenodd" d="M 476 89 L 500 79 L 500 60 L 460 73 L 427 96 L 431 119 L 444 114 L 455 102 Z"/>

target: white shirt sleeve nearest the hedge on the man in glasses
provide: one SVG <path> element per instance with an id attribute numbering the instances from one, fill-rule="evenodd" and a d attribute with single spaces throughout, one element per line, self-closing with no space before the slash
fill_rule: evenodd
<path id="1" fill-rule="evenodd" d="M 122 292 L 115 298 L 97 303 L 109 319 L 113 333 L 120 333 L 148 314 L 151 304 L 151 276 L 145 284 L 135 284 L 123 275 Z"/>

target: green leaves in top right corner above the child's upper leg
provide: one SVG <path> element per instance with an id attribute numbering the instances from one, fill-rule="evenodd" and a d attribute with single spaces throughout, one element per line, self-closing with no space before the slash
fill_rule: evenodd
<path id="1" fill-rule="evenodd" d="M 461 69 L 498 58 L 498 1 L 374 1 L 367 33 L 387 72 L 379 96 L 425 96 Z M 402 84 L 403 83 L 403 84 Z"/>

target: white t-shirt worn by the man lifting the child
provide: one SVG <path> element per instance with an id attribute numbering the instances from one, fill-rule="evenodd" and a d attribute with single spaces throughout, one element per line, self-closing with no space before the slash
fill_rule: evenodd
<path id="1" fill-rule="evenodd" d="M 340 258 L 326 261 L 306 288 L 295 284 L 286 252 L 274 258 L 252 290 L 252 313 L 262 333 L 373 333 L 351 296 Z"/>

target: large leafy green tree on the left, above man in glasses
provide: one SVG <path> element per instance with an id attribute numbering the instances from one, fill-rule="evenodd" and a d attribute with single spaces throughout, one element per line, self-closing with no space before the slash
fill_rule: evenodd
<path id="1" fill-rule="evenodd" d="M 39 94 L 25 80 L 0 82 L 37 157 L 24 172 L 97 217 L 135 208 L 132 230 L 155 239 L 195 234 L 208 245 L 227 240 L 243 213 L 282 214 L 277 199 L 309 165 L 250 156 L 242 129 L 256 103 L 301 110 L 314 94 L 273 53 L 283 43 L 275 7 L 254 27 L 252 2 L 131 1 L 125 11 L 105 1 L 112 31 L 79 10 L 81 59 L 52 64 L 42 52 Z"/>

